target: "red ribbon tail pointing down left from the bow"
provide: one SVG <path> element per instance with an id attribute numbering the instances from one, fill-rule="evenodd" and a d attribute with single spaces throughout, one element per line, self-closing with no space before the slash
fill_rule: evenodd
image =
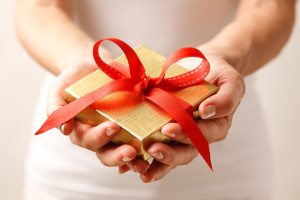
<path id="1" fill-rule="evenodd" d="M 35 135 L 39 135 L 52 128 L 62 125 L 63 123 L 75 117 L 86 107 L 90 106 L 92 103 L 105 97 L 106 95 L 118 91 L 128 91 L 131 88 L 132 84 L 128 83 L 128 80 L 126 79 L 110 82 L 54 111 L 44 122 L 41 128 L 35 133 Z"/>

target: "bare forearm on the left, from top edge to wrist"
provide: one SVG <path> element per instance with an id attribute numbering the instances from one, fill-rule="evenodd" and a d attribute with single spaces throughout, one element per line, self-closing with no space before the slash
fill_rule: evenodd
<path id="1" fill-rule="evenodd" d="M 29 54 L 59 74 L 68 65 L 92 61 L 94 41 L 72 20 L 69 1 L 17 2 L 16 31 Z"/>

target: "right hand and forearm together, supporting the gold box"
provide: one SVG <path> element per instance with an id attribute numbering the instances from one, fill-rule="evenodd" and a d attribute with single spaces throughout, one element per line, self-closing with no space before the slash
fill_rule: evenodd
<path id="1" fill-rule="evenodd" d="M 253 19 L 259 21 L 260 26 Z M 280 52 L 291 34 L 294 19 L 295 0 L 241 1 L 234 20 L 202 46 L 211 64 L 206 80 L 219 87 L 217 94 L 199 106 L 199 115 L 203 120 L 198 125 L 209 143 L 227 136 L 233 114 L 245 93 L 242 75 L 249 75 L 261 68 Z M 185 137 L 176 126 L 167 124 L 162 131 L 174 140 Z M 155 143 L 148 151 L 161 159 L 156 159 L 148 172 L 141 175 L 144 182 L 159 180 L 176 165 L 186 164 L 195 158 L 195 149 L 190 146 L 177 148 Z M 181 156 L 178 155 L 186 156 L 179 160 Z"/>

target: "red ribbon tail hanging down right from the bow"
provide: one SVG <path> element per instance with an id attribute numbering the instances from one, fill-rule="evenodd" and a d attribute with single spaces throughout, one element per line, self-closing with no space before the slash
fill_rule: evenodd
<path id="1" fill-rule="evenodd" d="M 146 95 L 146 98 L 162 108 L 177 123 L 180 124 L 182 130 L 187 134 L 200 155 L 212 170 L 209 144 L 194 119 L 183 106 L 187 103 L 159 88 L 153 88 L 149 94 Z"/>

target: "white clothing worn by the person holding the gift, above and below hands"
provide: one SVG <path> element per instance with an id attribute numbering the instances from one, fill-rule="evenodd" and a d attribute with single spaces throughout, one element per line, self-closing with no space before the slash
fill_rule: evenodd
<path id="1" fill-rule="evenodd" d="M 212 38 L 233 17 L 234 0 L 86 0 L 74 1 L 78 23 L 95 39 L 118 37 L 132 46 L 146 44 L 167 56 L 184 46 Z M 108 47 L 110 48 L 110 47 Z M 211 145 L 214 172 L 198 156 L 164 179 L 143 184 L 137 174 L 119 175 L 100 164 L 94 153 L 73 145 L 57 130 L 34 136 L 27 161 L 27 181 L 65 199 L 239 199 L 269 190 L 269 152 L 252 80 L 226 140 Z M 42 87 L 34 130 L 46 118 Z M 64 198 L 61 198 L 64 199 Z"/>

